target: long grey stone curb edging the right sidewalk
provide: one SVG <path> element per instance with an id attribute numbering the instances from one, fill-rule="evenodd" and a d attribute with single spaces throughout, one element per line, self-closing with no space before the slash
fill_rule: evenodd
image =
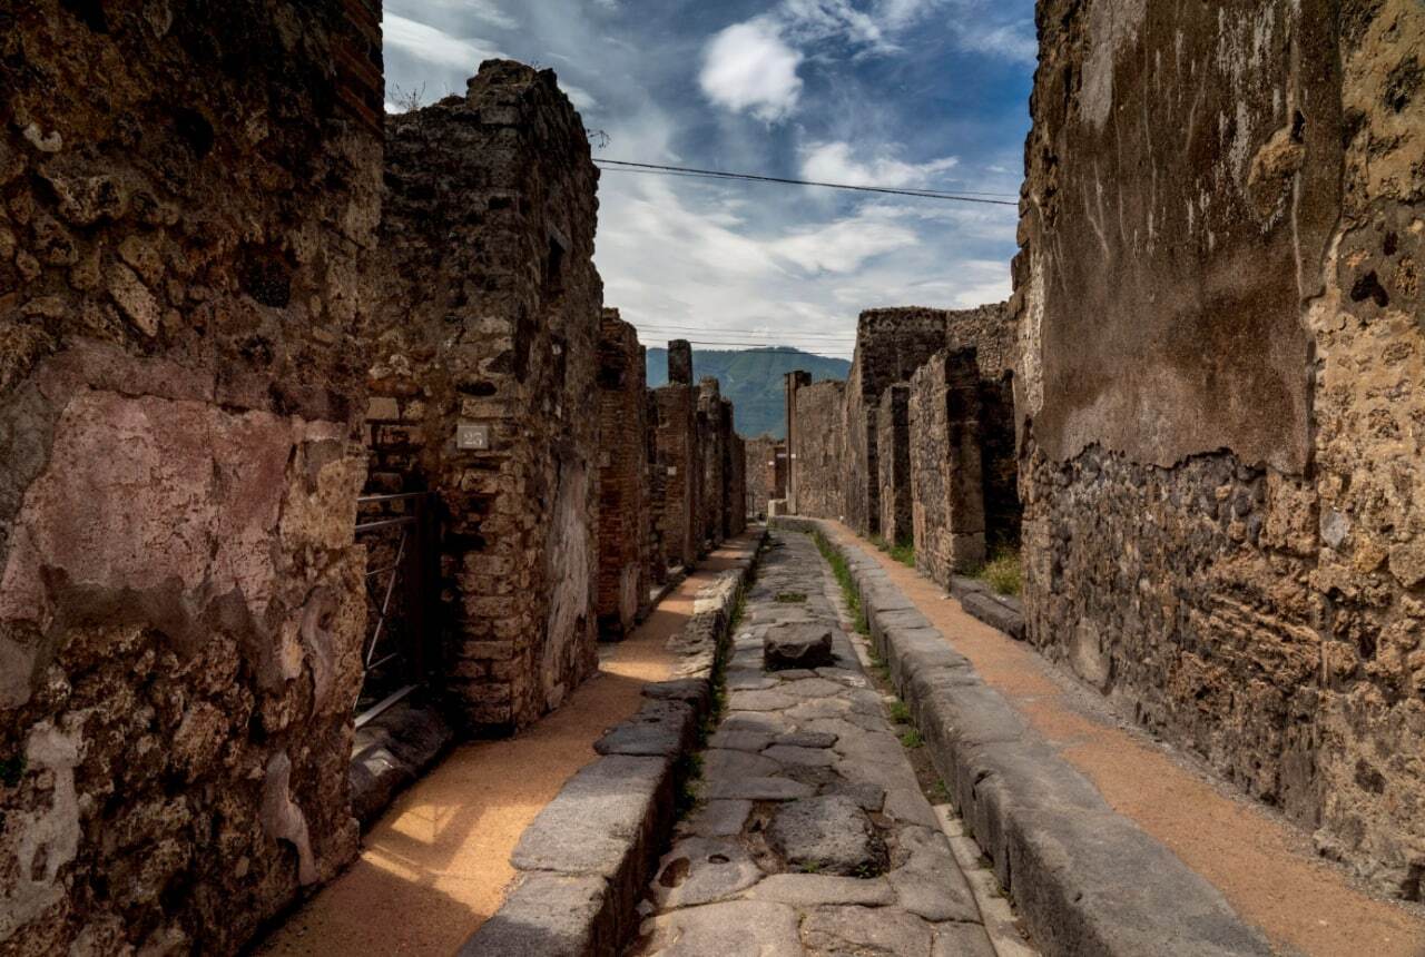
<path id="1" fill-rule="evenodd" d="M 872 641 L 935 768 L 1042 953 L 1271 953 L 1221 891 L 1116 813 L 986 685 L 869 554 L 815 520 L 774 527 L 819 530 L 845 557 Z"/>

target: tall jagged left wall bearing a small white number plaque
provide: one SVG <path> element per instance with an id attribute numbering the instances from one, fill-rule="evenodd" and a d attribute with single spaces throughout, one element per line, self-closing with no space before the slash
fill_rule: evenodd
<path id="1" fill-rule="evenodd" d="M 598 172 L 554 74 L 510 61 L 386 128 L 372 473 L 439 494 L 447 699 L 503 733 L 596 666 Z"/>

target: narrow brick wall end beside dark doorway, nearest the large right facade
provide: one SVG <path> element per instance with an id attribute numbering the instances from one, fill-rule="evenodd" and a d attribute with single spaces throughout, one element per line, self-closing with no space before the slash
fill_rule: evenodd
<path id="1" fill-rule="evenodd" d="M 985 561 L 980 373 L 973 349 L 942 350 L 906 402 L 915 567 L 942 585 Z"/>

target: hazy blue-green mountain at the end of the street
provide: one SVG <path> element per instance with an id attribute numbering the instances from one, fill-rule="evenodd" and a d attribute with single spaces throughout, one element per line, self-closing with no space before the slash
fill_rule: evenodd
<path id="1" fill-rule="evenodd" d="M 828 359 L 801 349 L 694 349 L 693 380 L 712 376 L 722 386 L 722 396 L 732 400 L 734 423 L 744 437 L 762 433 L 785 437 L 787 419 L 782 410 L 785 383 L 782 376 L 794 369 L 811 373 L 812 382 L 845 379 L 851 363 Z M 648 387 L 668 383 L 668 350 L 648 350 Z"/>

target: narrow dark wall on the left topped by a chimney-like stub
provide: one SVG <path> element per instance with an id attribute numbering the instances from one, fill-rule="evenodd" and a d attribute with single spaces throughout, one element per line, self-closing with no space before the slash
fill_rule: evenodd
<path id="1" fill-rule="evenodd" d="M 668 343 L 668 385 L 654 389 L 658 407 L 657 467 L 663 471 L 663 548 L 670 565 L 691 568 L 701 551 L 703 469 L 698 443 L 697 393 L 693 389 L 693 349 L 685 340 Z"/>

